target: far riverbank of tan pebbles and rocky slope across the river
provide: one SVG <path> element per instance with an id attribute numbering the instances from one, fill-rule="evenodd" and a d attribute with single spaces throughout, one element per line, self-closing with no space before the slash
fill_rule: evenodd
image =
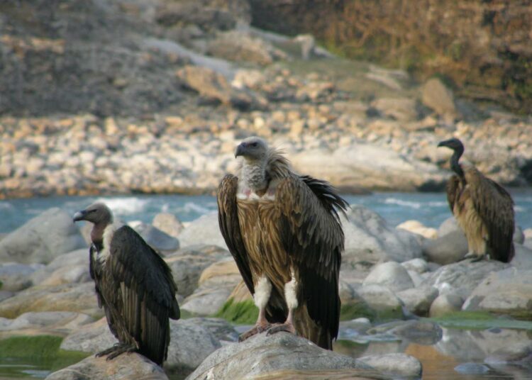
<path id="1" fill-rule="evenodd" d="M 245 1 L 57 3 L 1 6 L 2 198 L 212 192 L 249 135 L 346 192 L 443 189 L 452 135 L 493 179 L 532 181 L 529 117 L 252 28 Z"/>

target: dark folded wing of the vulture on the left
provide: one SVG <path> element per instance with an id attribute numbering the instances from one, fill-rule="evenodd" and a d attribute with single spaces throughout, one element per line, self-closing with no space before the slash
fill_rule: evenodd
<path id="1" fill-rule="evenodd" d="M 113 301 L 122 305 L 125 328 L 139 343 L 141 354 L 162 364 L 170 343 L 168 318 L 179 318 L 170 268 L 127 225 L 116 230 L 110 250 L 104 270 L 119 286 L 113 292 L 118 299 Z"/>

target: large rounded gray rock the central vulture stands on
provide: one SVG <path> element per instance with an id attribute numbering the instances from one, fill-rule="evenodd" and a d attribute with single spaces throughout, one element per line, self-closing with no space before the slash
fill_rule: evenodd
<path id="1" fill-rule="evenodd" d="M 303 337 L 289 333 L 255 335 L 226 345 L 207 357 L 187 380 L 204 379 L 301 379 L 346 376 L 372 379 L 375 371 L 357 360 L 323 350 Z"/>

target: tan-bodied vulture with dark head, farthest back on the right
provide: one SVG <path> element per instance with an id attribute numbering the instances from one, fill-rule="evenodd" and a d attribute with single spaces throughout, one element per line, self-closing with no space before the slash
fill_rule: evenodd
<path id="1" fill-rule="evenodd" d="M 497 182 L 484 177 L 472 164 L 459 163 L 464 145 L 457 138 L 438 147 L 452 149 L 447 184 L 450 211 L 465 233 L 469 252 L 464 259 L 510 262 L 514 257 L 514 201 Z"/>

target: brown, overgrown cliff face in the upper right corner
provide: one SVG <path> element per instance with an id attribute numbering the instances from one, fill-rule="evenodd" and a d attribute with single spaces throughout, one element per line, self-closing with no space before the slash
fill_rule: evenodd
<path id="1" fill-rule="evenodd" d="M 532 109 L 532 6 L 527 0 L 250 0 L 253 24 L 312 33 L 348 57 L 425 79 L 450 79 L 461 96 Z"/>

